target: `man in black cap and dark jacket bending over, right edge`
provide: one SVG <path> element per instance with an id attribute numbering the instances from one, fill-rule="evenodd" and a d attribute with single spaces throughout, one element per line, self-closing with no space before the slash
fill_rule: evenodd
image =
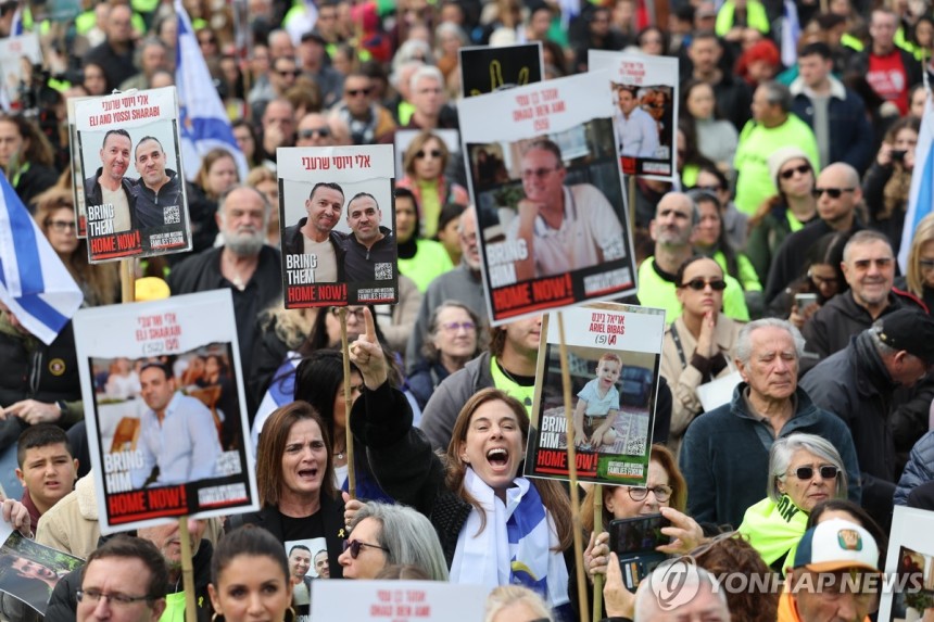
<path id="1" fill-rule="evenodd" d="M 802 380 L 815 404 L 849 427 L 862 471 L 862 506 L 881 525 L 892 520 L 899 474 L 892 423 L 894 393 L 924 379 L 932 365 L 934 319 L 920 309 L 903 308 L 883 316 Z"/>

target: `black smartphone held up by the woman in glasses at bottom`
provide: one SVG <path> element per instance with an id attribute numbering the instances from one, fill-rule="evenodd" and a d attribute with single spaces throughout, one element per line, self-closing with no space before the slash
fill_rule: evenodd
<path id="1" fill-rule="evenodd" d="M 661 515 L 620 519 L 609 523 L 609 548 L 619 557 L 622 581 L 633 592 L 639 582 L 665 561 L 668 556 L 656 547 L 669 544 L 671 538 L 661 529 L 671 522 Z"/>

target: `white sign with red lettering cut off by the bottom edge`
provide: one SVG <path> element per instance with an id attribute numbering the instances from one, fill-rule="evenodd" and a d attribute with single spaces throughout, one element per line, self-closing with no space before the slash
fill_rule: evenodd
<path id="1" fill-rule="evenodd" d="M 315 581 L 311 619 L 476 622 L 487 592 L 440 581 Z"/>

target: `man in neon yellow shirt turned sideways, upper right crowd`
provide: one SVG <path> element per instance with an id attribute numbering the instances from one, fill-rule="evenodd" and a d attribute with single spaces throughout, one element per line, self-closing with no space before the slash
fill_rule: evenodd
<path id="1" fill-rule="evenodd" d="M 745 214 L 755 214 L 762 202 L 777 192 L 767 165 L 775 150 L 795 144 L 810 162 L 820 162 L 813 131 L 791 110 L 792 93 L 782 84 L 762 82 L 753 93 L 753 120 L 740 134 L 733 160 L 739 175 L 736 207 Z"/>

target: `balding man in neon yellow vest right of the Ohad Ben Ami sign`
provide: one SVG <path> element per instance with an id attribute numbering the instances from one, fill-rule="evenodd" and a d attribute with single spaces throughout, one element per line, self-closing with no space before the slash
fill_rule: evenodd
<path id="1" fill-rule="evenodd" d="M 639 302 L 664 308 L 666 321 L 669 322 L 681 315 L 681 303 L 676 293 L 681 283 L 674 282 L 674 276 L 681 264 L 694 255 L 691 242 L 699 220 L 699 212 L 691 196 L 682 192 L 669 192 L 658 202 L 655 218 L 648 226 L 655 252 L 639 267 Z M 734 319 L 748 320 L 743 285 L 725 270 L 723 280 L 727 282 L 723 313 Z"/>

